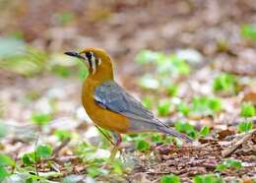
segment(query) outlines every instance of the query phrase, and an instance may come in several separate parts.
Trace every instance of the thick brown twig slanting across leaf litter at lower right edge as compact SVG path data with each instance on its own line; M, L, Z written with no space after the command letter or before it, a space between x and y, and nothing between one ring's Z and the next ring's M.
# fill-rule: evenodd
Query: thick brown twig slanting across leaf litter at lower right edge
M244 134L244 136L238 140L237 142L236 139L234 139L234 144L231 145L228 149L225 149L222 154L223 156L227 156L229 154L231 154L232 152L234 152L239 146L241 146L243 143L245 143L246 141L248 141L250 139L250 137L256 133L256 129Z

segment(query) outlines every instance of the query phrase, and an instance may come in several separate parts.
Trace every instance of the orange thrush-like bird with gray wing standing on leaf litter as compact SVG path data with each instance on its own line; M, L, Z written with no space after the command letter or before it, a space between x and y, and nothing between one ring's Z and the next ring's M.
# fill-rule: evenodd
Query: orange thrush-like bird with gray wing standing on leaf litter
M185 134L162 123L152 111L115 82L113 61L105 50L87 47L65 54L81 59L89 70L82 87L82 104L96 127L111 132L115 142L110 159L114 159L119 150L121 134L160 132L187 143L193 142Z

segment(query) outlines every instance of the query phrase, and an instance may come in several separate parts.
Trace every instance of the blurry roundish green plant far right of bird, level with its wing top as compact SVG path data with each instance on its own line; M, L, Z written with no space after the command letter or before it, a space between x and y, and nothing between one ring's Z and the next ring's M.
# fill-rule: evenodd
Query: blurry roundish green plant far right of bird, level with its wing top
M236 85L236 78L233 75L224 73L215 79L213 89L217 92L222 91L234 94L236 93Z

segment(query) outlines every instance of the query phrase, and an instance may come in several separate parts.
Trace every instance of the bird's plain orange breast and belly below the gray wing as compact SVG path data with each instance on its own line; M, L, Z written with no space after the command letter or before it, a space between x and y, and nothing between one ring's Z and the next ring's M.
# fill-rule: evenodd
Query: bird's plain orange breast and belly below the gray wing
M96 104L94 98L96 86L96 81L90 79L86 80L83 86L82 102L88 115L99 127L118 133L126 133L129 127L129 120L125 116Z

